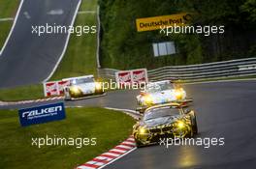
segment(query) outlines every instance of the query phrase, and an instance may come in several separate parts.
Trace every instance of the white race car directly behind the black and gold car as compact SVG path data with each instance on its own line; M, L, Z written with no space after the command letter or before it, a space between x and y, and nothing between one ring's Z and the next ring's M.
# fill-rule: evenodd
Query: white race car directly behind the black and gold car
M145 85L144 91L137 96L137 111L144 113L144 110L152 105L167 102L191 102L186 98L183 88L170 80L151 82Z

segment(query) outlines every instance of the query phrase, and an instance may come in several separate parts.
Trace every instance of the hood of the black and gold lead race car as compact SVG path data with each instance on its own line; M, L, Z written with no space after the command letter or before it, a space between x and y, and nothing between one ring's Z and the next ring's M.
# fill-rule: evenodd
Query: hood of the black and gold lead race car
M144 121L145 127L157 127L162 125L173 124L178 119L181 119L180 115L168 116L168 117L159 117L152 120Z

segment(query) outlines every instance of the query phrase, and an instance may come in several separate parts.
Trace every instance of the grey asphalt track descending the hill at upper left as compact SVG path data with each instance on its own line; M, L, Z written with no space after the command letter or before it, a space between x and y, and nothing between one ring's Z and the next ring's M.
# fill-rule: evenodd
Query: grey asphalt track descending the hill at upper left
M63 56L69 34L32 34L32 26L72 25L80 0L24 0L0 56L0 88L44 81Z

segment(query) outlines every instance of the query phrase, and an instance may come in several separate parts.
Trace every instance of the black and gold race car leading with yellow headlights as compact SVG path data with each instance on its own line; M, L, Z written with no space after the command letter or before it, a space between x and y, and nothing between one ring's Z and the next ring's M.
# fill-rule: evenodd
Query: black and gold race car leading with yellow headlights
M196 113L183 104L165 103L147 108L133 127L137 147L160 142L160 138L193 137L198 133Z

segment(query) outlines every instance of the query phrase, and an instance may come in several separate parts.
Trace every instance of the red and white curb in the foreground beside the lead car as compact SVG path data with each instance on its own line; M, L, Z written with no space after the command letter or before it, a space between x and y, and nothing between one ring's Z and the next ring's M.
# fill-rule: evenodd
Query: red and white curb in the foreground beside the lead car
M76 169L100 169L109 164L113 161L119 159L120 157L131 153L132 151L136 150L136 143L133 136L130 136L128 139L123 141L118 146L115 146L112 150L93 159L81 164Z

